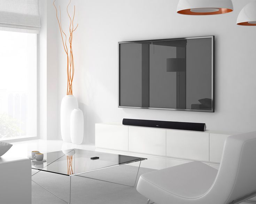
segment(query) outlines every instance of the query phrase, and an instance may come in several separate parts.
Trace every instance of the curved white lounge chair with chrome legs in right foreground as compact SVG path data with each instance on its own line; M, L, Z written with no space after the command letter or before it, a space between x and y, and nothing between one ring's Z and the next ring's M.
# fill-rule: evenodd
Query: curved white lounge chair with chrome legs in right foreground
M255 146L256 131L229 136L219 170L195 161L152 171L137 190L157 204L241 203L256 195Z

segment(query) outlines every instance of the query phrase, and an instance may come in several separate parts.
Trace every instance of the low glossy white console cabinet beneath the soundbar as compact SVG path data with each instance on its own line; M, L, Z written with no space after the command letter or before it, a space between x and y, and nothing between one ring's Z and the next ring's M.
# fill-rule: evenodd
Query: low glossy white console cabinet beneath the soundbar
M225 139L231 134L214 130L201 132L100 123L95 124L95 146L219 163Z

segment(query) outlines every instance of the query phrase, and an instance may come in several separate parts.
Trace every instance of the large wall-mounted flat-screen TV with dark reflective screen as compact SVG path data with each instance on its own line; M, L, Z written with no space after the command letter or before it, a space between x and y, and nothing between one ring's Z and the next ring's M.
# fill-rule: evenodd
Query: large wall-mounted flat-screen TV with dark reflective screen
M214 36L118 42L118 107L214 112Z

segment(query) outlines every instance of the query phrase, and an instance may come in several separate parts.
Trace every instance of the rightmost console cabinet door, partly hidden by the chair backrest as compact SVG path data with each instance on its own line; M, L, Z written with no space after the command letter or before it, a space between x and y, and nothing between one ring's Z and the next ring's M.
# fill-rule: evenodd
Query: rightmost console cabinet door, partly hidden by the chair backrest
M229 135L210 133L210 161L220 162L224 143Z

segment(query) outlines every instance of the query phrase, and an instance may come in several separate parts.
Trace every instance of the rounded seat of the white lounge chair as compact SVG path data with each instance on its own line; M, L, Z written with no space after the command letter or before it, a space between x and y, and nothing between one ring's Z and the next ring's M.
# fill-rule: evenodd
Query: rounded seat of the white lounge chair
M152 201L154 195L161 195L158 203L169 203L173 196L197 198L210 189L217 172L202 162L189 162L141 175L137 190Z

